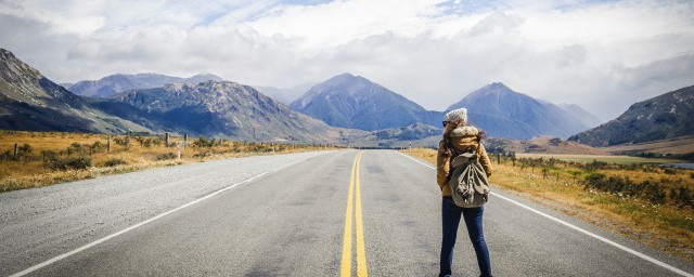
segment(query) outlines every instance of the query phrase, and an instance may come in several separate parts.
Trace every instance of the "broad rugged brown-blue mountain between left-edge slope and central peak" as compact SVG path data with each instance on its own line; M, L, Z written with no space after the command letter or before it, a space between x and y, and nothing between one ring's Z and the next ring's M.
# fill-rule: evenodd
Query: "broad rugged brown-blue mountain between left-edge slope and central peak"
M339 141L340 132L230 81L171 83L94 100L103 110L157 131L250 141Z

